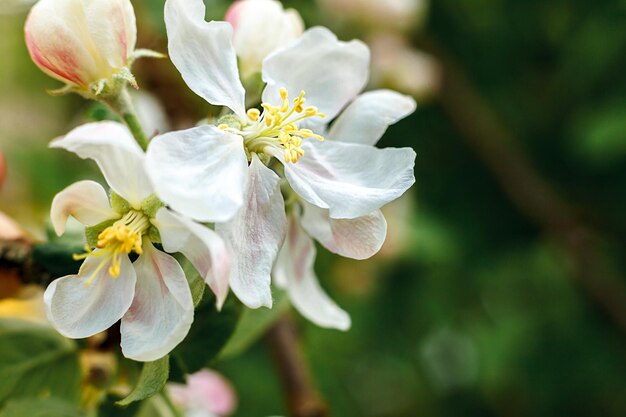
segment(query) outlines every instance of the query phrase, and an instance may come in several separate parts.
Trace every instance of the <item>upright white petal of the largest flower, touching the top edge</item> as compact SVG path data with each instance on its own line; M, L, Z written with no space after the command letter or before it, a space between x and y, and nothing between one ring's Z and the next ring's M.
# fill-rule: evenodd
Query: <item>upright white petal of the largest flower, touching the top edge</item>
M245 91L237 71L232 27L225 22L206 22L204 16L202 0L167 0L170 58L196 94L244 115Z

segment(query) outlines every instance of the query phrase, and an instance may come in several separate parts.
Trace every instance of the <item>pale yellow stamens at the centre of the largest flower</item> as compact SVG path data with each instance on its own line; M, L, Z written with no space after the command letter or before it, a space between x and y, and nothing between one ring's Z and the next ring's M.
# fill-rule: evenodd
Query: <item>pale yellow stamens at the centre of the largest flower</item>
M244 121L241 130L225 124L218 127L242 136L244 146L249 154L264 153L270 155L270 149L280 149L283 151L286 162L296 163L300 157L304 156L304 150L301 148L303 139L324 140L322 136L313 133L310 129L298 127L298 123L302 120L311 117L326 117L315 106L305 107L306 98L304 96L304 91L301 91L300 95L290 102L289 92L286 88L281 88L282 104L280 106L263 103L261 104L263 112L256 108L248 110L248 120Z

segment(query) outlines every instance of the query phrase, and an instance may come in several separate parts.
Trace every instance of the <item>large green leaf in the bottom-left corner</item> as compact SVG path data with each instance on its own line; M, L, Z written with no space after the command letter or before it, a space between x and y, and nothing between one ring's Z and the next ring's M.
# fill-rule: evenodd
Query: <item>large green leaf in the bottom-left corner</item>
M33 396L77 402L80 380L73 341L48 326L0 319L0 403Z

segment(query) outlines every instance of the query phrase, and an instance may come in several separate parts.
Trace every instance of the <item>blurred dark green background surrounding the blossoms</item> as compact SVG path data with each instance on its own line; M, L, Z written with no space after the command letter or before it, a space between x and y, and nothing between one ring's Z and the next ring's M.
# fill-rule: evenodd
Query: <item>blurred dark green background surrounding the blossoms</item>
M0 0L0 210L43 238L52 197L98 179L47 143L104 110L46 94L59 85L28 57L27 3ZM133 0L139 47L166 51L162 3ZM206 3L214 19L229 5ZM332 414L626 415L626 2L284 3L309 27L364 39L370 87L419 102L379 145L418 154L381 253L318 251L352 329L298 321ZM135 73L152 94L141 107L163 107L146 116L152 132L209 111L169 61ZM235 416L286 413L262 340L215 368L235 387Z

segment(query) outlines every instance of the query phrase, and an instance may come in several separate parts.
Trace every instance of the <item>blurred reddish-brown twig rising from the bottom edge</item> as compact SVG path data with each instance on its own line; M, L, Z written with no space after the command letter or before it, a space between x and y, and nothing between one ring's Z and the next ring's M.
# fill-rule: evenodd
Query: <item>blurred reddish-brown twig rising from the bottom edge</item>
M327 417L329 411L313 385L297 331L289 315L278 319L267 334L292 417Z

